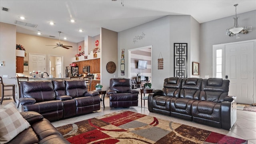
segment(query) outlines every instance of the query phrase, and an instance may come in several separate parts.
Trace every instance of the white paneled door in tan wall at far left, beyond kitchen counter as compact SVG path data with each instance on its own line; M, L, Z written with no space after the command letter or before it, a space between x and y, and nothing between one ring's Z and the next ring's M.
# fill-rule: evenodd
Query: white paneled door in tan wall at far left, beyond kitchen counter
M45 70L45 55L44 54L29 54L29 71L41 71L46 72ZM47 75L47 74L46 74ZM44 77L46 76L44 74ZM37 75L40 77L40 75Z

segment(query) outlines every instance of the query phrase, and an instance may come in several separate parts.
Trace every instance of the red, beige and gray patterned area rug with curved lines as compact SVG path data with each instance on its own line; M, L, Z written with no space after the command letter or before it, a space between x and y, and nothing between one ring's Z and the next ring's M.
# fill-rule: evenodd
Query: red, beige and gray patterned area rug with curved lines
M72 144L247 144L247 140L130 111L57 128Z

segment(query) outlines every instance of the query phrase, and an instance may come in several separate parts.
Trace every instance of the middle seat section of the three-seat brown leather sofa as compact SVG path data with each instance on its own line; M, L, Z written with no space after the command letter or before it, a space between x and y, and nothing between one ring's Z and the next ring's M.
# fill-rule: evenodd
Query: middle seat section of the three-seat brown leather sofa
M200 97L202 79L183 78L179 98L172 98L171 116L192 120L192 103Z

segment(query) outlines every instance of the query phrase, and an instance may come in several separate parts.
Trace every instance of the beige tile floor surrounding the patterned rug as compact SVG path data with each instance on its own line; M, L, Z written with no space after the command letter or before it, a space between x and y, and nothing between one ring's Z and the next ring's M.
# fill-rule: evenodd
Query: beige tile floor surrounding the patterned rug
M13 100L4 100L2 106L6 105L10 102L13 102ZM117 112L117 111L120 111L120 110L130 110L130 111L138 112L138 113L141 113L141 114L155 116L157 118L161 118L161 119L164 119L164 120L170 120L172 122L178 122L178 123L181 123L181 124L186 124L186 125L189 125L189 126L202 128L202 129L205 129L205 130L218 132L220 134L225 134L225 135L233 136L233 137L236 137L236 138L246 139L246 140L248 140L248 144L256 144L256 112L248 112L248 111L244 111L244 110L237 110L236 124L232 127L232 129L230 131L228 131L228 130L223 130L223 129L220 129L220 128L214 128L214 127L206 126L206 125L199 124L199 123L196 123L196 122L191 122L191 121L188 121L188 120L182 120L180 118L174 118L172 116L166 116L166 115L162 115L162 114L149 112L148 111L147 100L145 101L145 103L146 103L145 108L143 106L141 108L140 95L139 95L138 106L133 106L133 107L130 107L130 108L110 108L109 107L109 98L105 97L105 108L101 108L99 111L93 112L91 114L76 116L74 118L68 118L68 119L65 119L65 120L59 120L57 122L52 122L52 124L55 127L58 127L58 126L63 126L63 125L74 123L74 122L79 122L81 120L86 120L86 119L89 119L89 118L102 116L104 114ZM142 105L143 105L143 102L142 102ZM2 106L0 106L0 108ZM21 111L21 106L19 107L19 111Z

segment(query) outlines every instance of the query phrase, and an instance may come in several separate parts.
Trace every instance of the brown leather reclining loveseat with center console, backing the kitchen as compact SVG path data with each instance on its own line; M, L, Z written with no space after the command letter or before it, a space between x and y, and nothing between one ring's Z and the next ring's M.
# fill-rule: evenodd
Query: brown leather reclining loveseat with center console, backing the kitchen
M20 83L22 112L34 111L50 121L100 110L98 92L87 91L85 80Z

